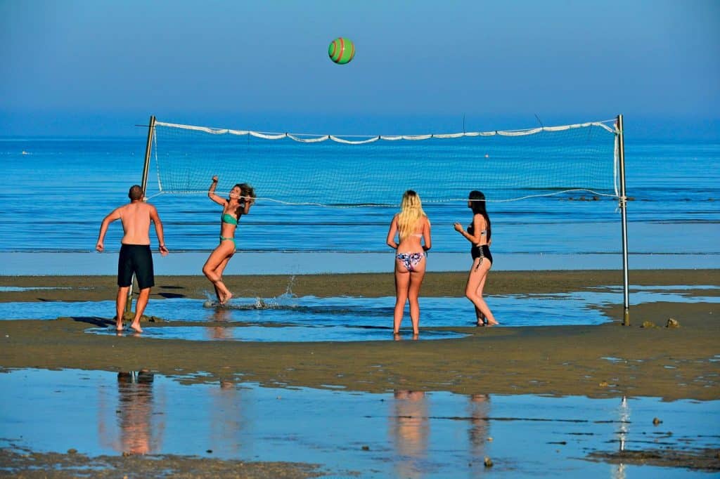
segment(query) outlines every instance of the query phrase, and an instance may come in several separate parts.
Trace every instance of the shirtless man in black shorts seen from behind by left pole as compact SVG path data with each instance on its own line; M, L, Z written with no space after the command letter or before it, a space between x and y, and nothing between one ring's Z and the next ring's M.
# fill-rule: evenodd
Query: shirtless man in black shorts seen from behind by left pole
M163 237L163 224L160 221L160 216L158 216L158 210L155 209L155 206L143 201L144 194L143 188L140 188L140 186L133 185L130 187L130 192L127 193L127 196L130 197L130 204L120 206L105 216L100 225L97 245L95 245L96 250L100 252L104 250L102 242L105 239L107 227L116 219L120 219L122 231L125 234L122 237L120 257L117 261L117 300L115 301L115 309L117 310L115 329L117 331L122 331L122 314L125 311L125 304L127 304L127 293L132 288L132 275L134 273L135 278L138 278L140 295L138 296L135 317L130 323L130 328L135 332L143 332L143 329L140 328L140 317L143 316L145 306L148 305L150 288L155 286L153 255L150 252L150 222L155 224L161 255L168 254Z

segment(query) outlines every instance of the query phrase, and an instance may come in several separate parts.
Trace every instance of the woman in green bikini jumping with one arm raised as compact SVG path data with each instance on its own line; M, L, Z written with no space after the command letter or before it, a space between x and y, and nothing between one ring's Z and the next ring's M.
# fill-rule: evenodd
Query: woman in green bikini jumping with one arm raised
M238 227L240 216L248 214L250 207L255 203L255 191L248 183L238 183L230 190L230 198L225 199L215 194L217 188L217 175L212 177L210 190L207 196L215 203L222 206L220 216L220 245L210 253L202 273L207 276L212 286L215 287L217 302L225 304L233 297L228 287L222 282L222 271L228 265L228 261L235 254L235 229Z

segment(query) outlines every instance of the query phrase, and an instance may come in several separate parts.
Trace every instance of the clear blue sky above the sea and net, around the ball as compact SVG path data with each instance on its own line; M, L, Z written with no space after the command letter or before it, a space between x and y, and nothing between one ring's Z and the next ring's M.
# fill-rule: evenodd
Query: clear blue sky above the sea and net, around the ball
M338 36L348 65L328 58ZM346 134L618 113L715 129L719 112L717 0L0 0L0 134L127 135L150 114Z

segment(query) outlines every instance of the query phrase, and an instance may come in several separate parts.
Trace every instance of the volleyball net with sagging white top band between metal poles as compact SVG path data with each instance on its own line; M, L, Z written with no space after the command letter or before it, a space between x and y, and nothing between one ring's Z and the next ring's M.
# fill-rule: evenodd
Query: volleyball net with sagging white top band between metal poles
M258 201L397 206L587 192L618 197L616 120L489 132L345 136L256 132L156 121L150 157L158 190L204 194L250 183ZM150 166L152 170L152 166Z

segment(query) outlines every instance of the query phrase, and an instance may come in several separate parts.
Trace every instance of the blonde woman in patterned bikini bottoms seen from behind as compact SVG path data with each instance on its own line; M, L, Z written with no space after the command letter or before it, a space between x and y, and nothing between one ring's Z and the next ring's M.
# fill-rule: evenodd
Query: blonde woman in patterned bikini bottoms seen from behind
M395 236L399 242L395 241ZM423 211L420 196L413 190L402 194L400 213L395 214L387 232L387 245L395 252L395 314L392 332L400 334L400 323L405 303L410 300L410 320L413 322L413 337L420 330L420 286L425 277L426 254L432 246L430 220Z

